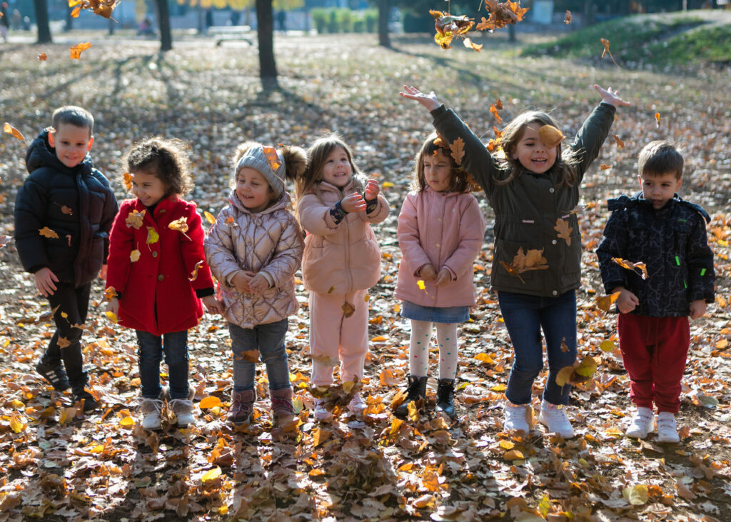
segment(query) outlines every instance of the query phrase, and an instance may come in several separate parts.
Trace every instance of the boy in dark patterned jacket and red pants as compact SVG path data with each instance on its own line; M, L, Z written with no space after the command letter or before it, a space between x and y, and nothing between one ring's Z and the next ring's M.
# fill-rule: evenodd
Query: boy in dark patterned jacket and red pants
M700 206L675 192L683 183L683 156L670 143L645 145L638 159L642 192L609 200L612 214L596 250L607 294L619 292L619 348L637 406L626 435L679 442L675 414L688 355L688 316L705 314L713 303L713 252L708 247ZM704 221L705 219L705 221ZM645 263L646 273L627 261Z

